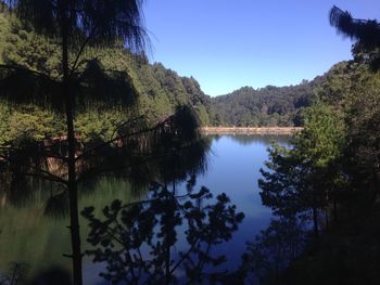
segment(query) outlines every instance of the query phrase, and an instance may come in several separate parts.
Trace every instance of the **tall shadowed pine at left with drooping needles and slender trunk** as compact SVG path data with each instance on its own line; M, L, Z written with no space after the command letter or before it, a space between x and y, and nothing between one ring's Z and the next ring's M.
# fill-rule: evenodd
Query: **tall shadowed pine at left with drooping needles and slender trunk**
M68 189L71 235L73 246L74 283L81 284L81 250L77 205L77 161L74 116L79 101L80 87L90 87L91 101L110 100L124 103L128 93L125 90L126 75L114 75L115 82L101 75L96 61L81 61L81 54L89 44L112 46L123 42L131 49L141 51L145 42L142 26L140 0L131 1L92 1L92 0L8 0L4 3L26 25L31 25L37 33L56 40L62 49L59 78L24 69L17 66L2 66L2 96L13 101L33 102L62 109L66 118L67 179L62 181ZM83 65L86 65L85 67ZM87 72L89 70L89 72ZM91 70L91 72L90 72ZM81 73L79 73L81 72ZM34 86L31 92L26 86ZM20 89L23 90L20 90ZM18 90L17 90L18 89ZM94 90L107 92L94 92ZM102 98L104 96L104 98Z

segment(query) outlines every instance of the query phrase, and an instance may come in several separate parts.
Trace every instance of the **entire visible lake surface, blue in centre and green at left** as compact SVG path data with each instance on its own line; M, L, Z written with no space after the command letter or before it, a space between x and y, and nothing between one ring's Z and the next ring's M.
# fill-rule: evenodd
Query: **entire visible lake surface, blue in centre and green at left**
M208 168L204 174L197 178L195 189L202 185L211 190L214 196L226 193L237 205L237 210L244 212L244 219L233 237L228 243L218 245L217 250L227 256L229 269L240 263L245 243L253 241L255 235L265 229L271 212L261 203L257 179L259 169L268 158L267 147L275 140L288 144L289 137L283 135L213 135L212 152L208 154ZM34 191L17 203L9 203L10 197L0 193L0 274L7 271L12 262L25 265L29 274L59 265L69 270L71 260L63 254L71 252L67 218L51 218L43 216L43 206L49 197L47 185L45 191ZM80 196L80 207L94 206L100 215L101 209L113 199L124 203L139 199L131 194L126 181L103 179L92 185L91 193ZM183 185L178 185L183 187ZM85 192L85 191L84 191ZM84 249L88 229L81 220L81 238ZM180 244L180 241L179 241ZM180 247L180 246L179 246ZM103 264L92 263L89 258L84 260L85 284L101 284L98 273Z

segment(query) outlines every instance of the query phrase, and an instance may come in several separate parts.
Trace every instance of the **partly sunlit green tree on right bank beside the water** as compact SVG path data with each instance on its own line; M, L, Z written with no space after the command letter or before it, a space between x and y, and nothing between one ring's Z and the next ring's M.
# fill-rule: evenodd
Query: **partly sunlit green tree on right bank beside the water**
M343 121L322 104L305 112L304 129L293 147L274 145L269 150L269 170L261 170L258 181L264 205L280 217L313 213L318 234L318 209L326 209L342 177L339 164L344 145Z

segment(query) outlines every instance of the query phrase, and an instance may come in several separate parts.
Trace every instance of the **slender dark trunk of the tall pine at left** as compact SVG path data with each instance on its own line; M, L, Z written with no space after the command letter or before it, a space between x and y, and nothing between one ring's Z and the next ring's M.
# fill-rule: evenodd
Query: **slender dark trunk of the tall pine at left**
M65 1L63 1L65 2ZM75 131L74 131L74 95L69 85L68 73L68 24L66 8L62 9L62 68L63 68L63 96L65 100L67 127L67 170L68 170L68 200L69 200L69 231L72 237L73 282L83 284L81 250L79 233L78 196L75 170Z

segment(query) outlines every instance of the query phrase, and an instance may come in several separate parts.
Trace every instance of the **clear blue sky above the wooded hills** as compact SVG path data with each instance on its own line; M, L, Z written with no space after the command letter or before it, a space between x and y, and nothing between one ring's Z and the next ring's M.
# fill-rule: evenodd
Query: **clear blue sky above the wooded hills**
M150 61L193 76L213 96L311 80L351 59L351 40L329 25L333 4L380 17L378 0L145 0Z

